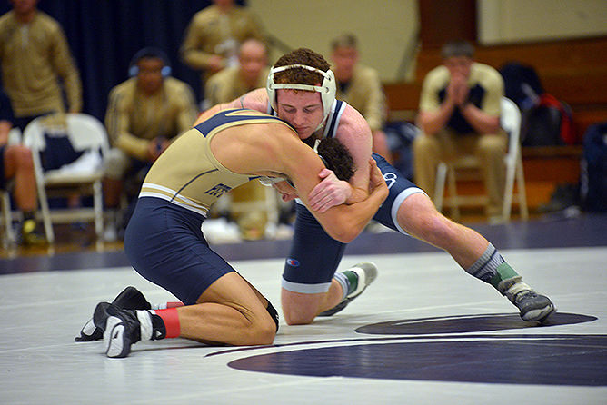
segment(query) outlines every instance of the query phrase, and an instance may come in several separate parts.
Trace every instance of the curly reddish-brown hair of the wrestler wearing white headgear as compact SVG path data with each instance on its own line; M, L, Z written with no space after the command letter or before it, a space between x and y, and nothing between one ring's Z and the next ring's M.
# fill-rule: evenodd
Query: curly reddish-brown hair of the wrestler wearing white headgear
M278 58L273 67L290 64L305 64L323 72L328 71L331 67L331 64L324 59L322 54L316 54L313 50L307 48L295 49L288 54L284 54ZM274 83L318 85L323 83L323 76L309 70L294 68L274 74Z

